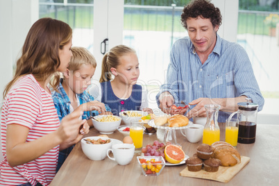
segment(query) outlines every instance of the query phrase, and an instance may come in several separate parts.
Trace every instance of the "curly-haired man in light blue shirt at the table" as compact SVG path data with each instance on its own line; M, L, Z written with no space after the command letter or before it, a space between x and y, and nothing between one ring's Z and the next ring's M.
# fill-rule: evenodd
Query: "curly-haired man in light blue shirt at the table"
M218 104L219 122L246 98L262 110L264 99L246 51L217 34L219 8L209 1L192 1L183 9L181 22L189 37L177 40L171 49L167 83L156 96L161 110L184 101L193 105L187 117L206 117L204 105Z

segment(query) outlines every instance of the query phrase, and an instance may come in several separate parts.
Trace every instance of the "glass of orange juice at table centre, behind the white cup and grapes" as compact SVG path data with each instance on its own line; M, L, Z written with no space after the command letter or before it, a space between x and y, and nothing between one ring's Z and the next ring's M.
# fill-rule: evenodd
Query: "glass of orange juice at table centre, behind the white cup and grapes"
M142 151L142 142L145 130L143 125L144 121L142 119L139 121L130 122L130 137L132 137L133 143L135 145L135 153L140 153Z

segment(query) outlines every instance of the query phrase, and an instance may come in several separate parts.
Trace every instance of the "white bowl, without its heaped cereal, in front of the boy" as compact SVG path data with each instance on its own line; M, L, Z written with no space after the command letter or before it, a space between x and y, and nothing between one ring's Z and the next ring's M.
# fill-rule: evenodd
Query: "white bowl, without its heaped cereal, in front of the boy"
M107 117L108 115L98 115L95 116L95 119L102 118L102 117ZM114 116L119 118L119 121L110 121L110 122L102 122L102 121L96 121L95 119L92 119L93 126L96 128L96 130L99 131L101 134L112 134L117 130L117 127L121 124L121 117Z

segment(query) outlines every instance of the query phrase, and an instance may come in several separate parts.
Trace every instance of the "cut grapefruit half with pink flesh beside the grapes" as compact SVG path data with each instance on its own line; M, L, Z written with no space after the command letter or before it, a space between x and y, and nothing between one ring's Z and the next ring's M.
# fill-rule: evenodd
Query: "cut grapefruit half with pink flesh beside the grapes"
M180 146L169 144L164 148L164 158L168 162L176 164L184 160L185 153Z

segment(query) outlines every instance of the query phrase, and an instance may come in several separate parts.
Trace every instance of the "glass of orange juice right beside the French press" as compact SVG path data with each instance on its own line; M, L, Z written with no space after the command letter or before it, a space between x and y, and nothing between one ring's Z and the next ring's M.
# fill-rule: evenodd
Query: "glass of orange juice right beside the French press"
M232 146L237 146L238 119L226 119L226 142Z

